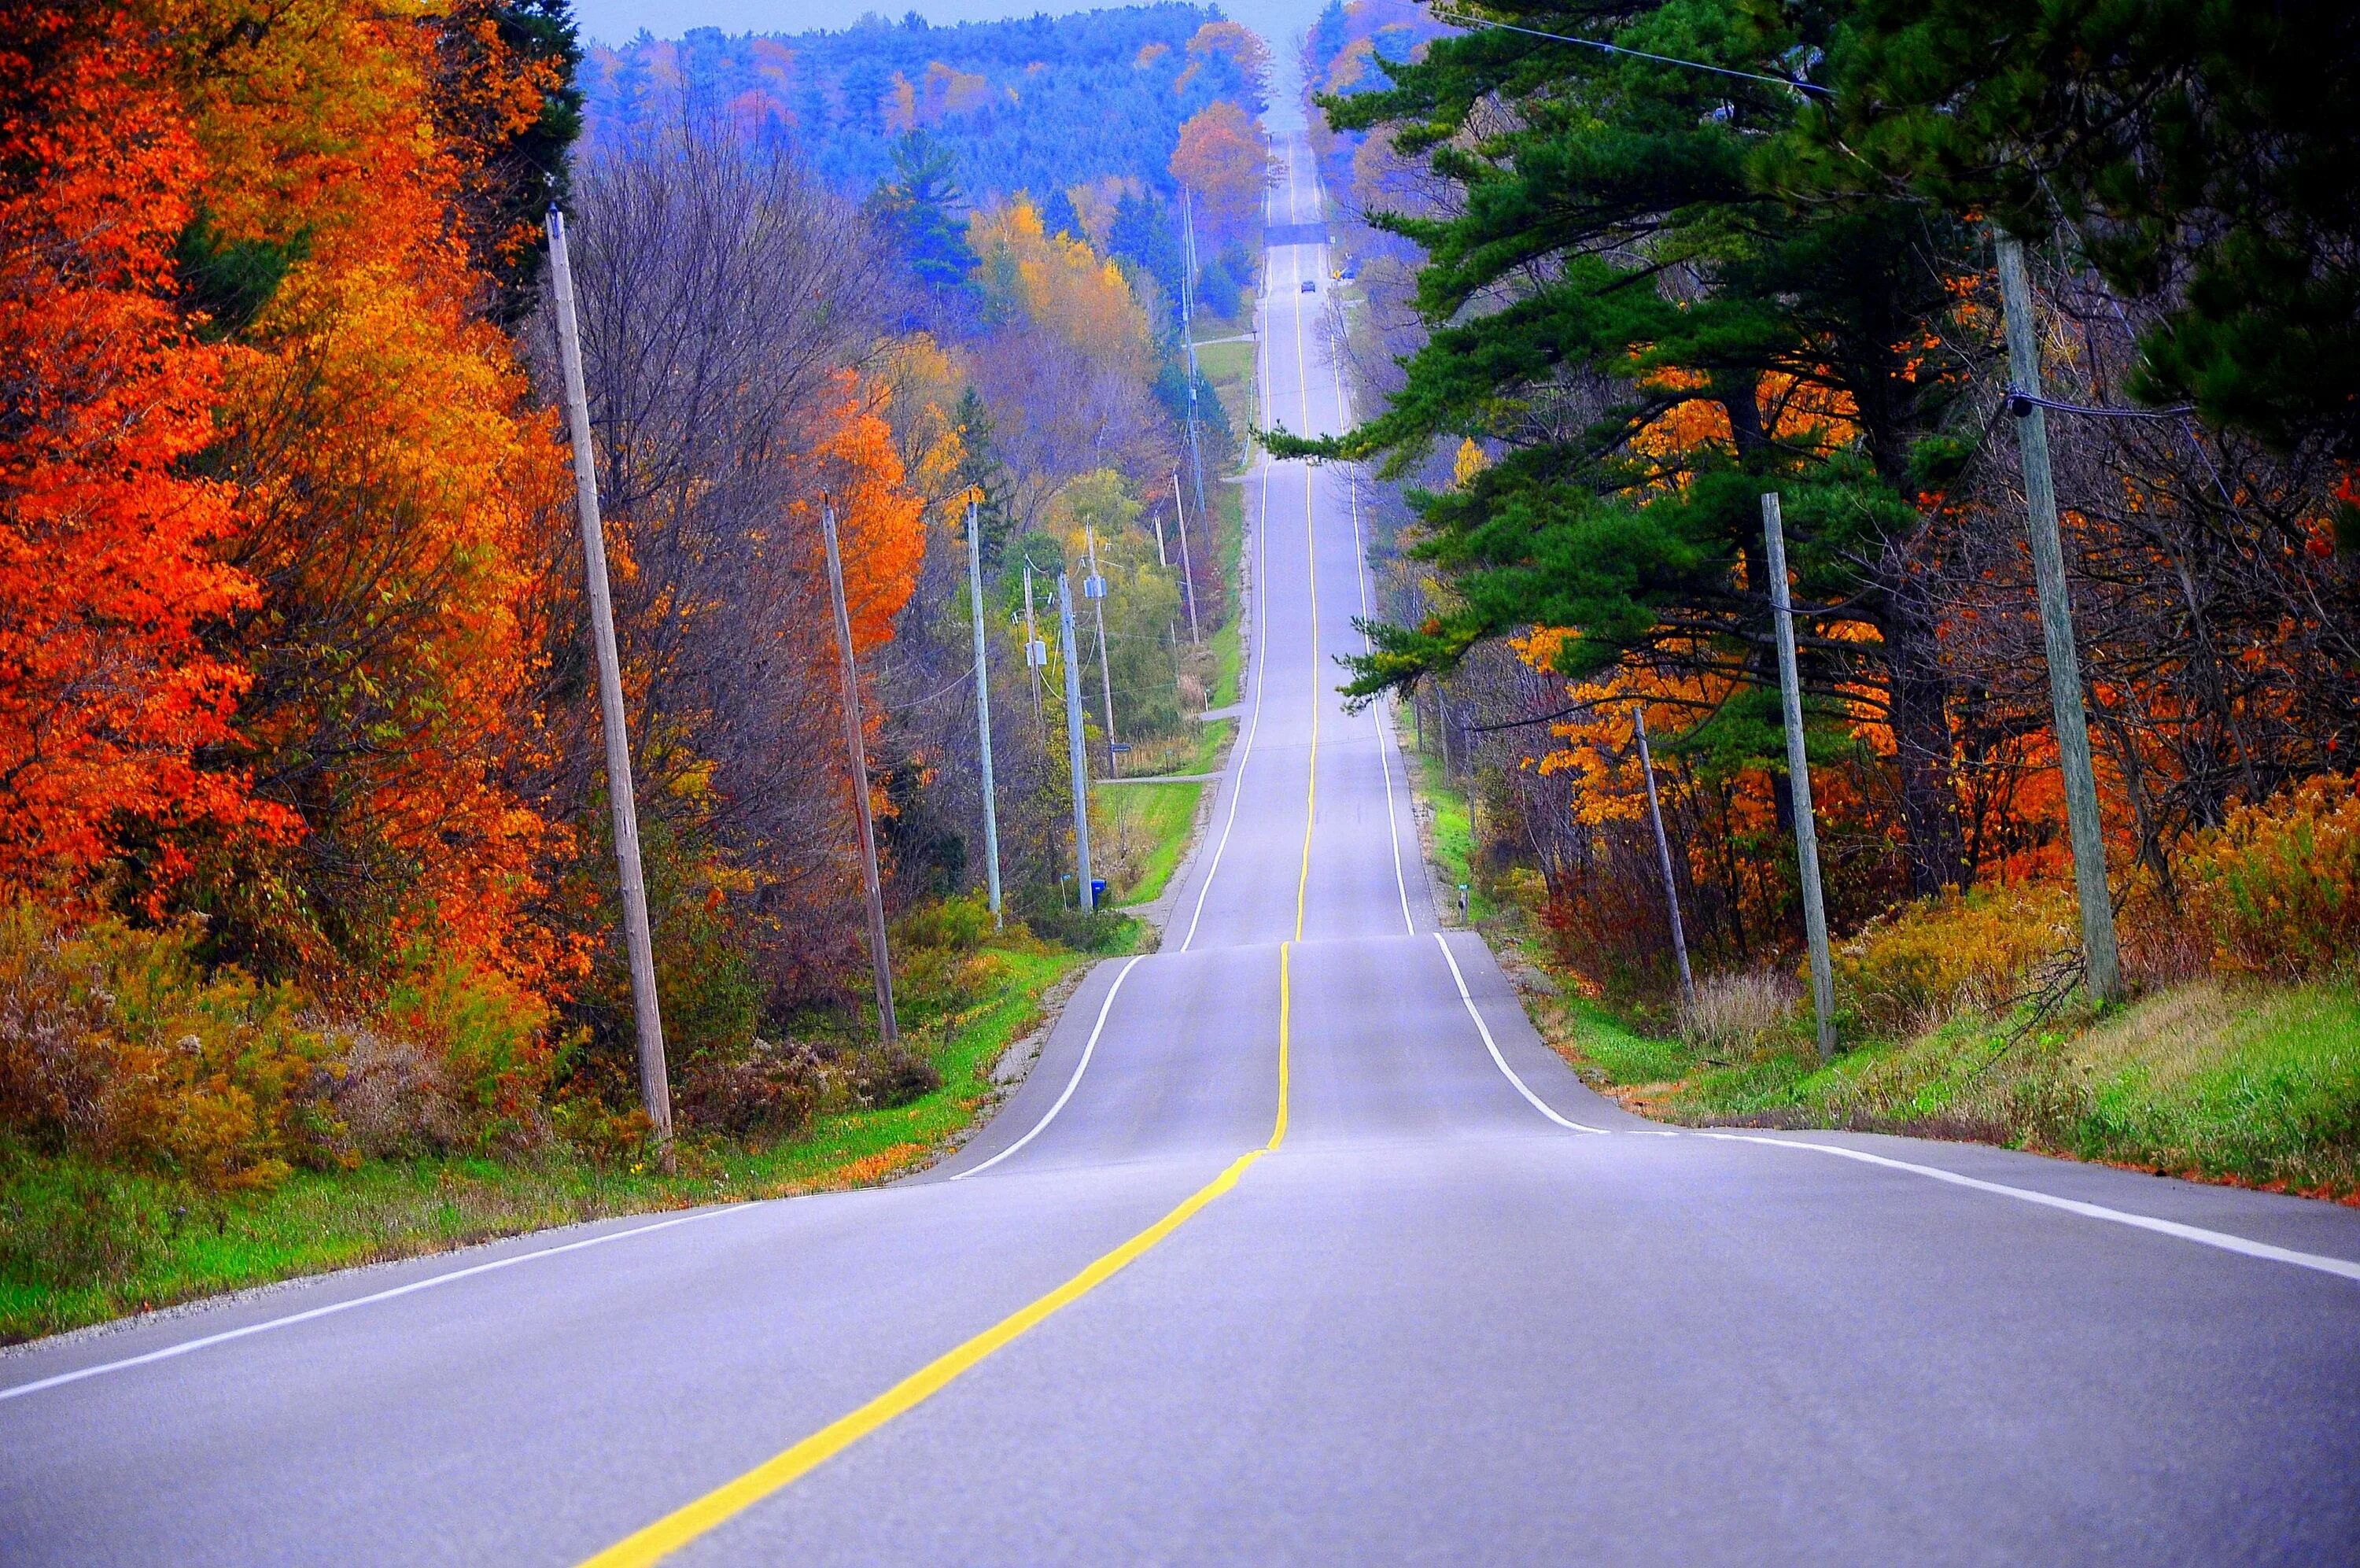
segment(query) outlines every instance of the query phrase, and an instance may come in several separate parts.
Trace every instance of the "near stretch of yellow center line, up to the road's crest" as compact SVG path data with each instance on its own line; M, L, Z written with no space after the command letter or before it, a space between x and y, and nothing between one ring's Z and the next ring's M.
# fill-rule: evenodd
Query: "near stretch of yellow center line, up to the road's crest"
M772 1492L793 1485L800 1476L826 1464L843 1450L852 1448L866 1438L878 1426L885 1426L897 1415L916 1410L925 1400L935 1398L949 1389L963 1372L970 1372L984 1363L996 1351L1015 1344L1031 1329L1041 1327L1048 1318L1064 1311L1067 1306L1081 1301L1093 1289L1119 1275L1130 1263L1138 1263L1147 1252L1156 1247L1173 1230L1185 1226L1192 1214L1204 1209L1208 1202L1237 1185L1237 1178L1260 1159L1263 1155L1279 1148L1286 1141L1286 1079L1289 1079L1289 1015L1293 1011L1293 982L1289 973L1289 945L1279 942L1279 1115L1277 1124L1270 1129L1270 1143L1258 1150L1246 1150L1232 1159L1220 1176L1204 1183L1175 1207L1171 1214L1156 1223L1140 1230L1128 1242L1104 1254L1079 1275L1048 1292L1038 1301L1017 1308L1015 1313L1001 1318L989 1329L975 1339L961 1344L958 1348L937 1355L927 1365L918 1367L899 1384L876 1396L852 1415L838 1417L795 1443L793 1448L772 1455L762 1464L753 1466L736 1481L727 1481L696 1502L666 1514L644 1530L618 1540L597 1556L583 1561L583 1568L637 1568L640 1563L656 1563L673 1551L687 1547L696 1537L715 1530L717 1525L736 1518L753 1504L762 1502Z

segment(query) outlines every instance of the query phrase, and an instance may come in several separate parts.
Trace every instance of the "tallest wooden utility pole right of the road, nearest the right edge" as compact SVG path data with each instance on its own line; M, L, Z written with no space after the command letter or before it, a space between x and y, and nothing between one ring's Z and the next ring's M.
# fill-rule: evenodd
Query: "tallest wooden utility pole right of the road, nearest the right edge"
M2065 541L2058 536L2058 494L2048 475L2048 413L2041 397L2041 349L2032 335L2032 279L2025 248L1999 231L1999 300L2008 319L2008 387L2015 446L2025 460L2025 522L2032 534L2032 586L2041 602L2041 647L2048 654L2048 708L2065 775L2065 827L2072 834L2072 883L2082 902L2082 963L2091 997L2122 994L2115 949L2115 897L2105 886L2105 822L2098 817L2098 772L2089 756L2089 713L2082 706L2082 654L2072 635L2065 588Z

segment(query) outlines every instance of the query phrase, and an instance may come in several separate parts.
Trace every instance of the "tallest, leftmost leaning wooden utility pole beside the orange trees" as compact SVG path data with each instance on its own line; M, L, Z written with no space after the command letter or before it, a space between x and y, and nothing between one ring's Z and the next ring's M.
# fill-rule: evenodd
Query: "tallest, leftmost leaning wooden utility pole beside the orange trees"
M566 373L566 430L573 437L573 501L583 529L590 640L597 645L597 711L607 730L607 805L614 810L614 864L623 883L623 949L630 954L630 1015L640 1044L640 1103L656 1148L670 1159L673 1082L663 1065L663 1008L656 1001L656 942L640 874L640 805L630 791L630 734L623 730L623 664L614 652L614 597L607 588L607 531L597 510L597 453L590 449L590 392L583 335L573 319L573 260L566 215L550 208L550 279L557 286L557 357Z

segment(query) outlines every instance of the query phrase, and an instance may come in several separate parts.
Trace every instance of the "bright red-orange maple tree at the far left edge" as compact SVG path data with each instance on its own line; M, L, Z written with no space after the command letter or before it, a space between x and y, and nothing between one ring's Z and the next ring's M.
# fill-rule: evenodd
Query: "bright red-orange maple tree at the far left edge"
M80 883L123 815L283 836L196 765L248 675L205 626L257 602L215 548L222 357L172 302L201 158L149 33L104 5L0 21L0 883Z

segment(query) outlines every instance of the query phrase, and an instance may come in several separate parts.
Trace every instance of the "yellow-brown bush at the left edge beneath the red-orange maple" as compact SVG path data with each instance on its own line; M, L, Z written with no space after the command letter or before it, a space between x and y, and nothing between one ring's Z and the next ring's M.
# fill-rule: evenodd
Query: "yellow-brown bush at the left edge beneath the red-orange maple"
M198 930L0 914L0 1119L35 1145L137 1162L210 1190L267 1190L349 1159L333 1108L342 1041L290 987L205 973Z

